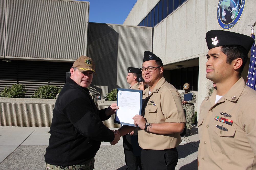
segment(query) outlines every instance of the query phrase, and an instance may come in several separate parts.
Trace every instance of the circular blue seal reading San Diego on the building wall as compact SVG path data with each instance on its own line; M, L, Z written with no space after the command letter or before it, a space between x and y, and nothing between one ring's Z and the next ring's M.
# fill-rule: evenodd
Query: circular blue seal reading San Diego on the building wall
M242 16L246 0L219 0L217 19L223 30L229 30Z

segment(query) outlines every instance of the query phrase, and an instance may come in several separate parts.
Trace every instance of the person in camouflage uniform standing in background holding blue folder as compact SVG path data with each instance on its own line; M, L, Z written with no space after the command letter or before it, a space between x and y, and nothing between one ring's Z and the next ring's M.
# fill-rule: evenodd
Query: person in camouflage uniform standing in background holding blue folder
M183 133L181 133L180 135L184 135L184 136L190 136L190 130L192 129L192 118L193 118L193 115L195 113L195 106L194 106L194 103L196 102L196 95L194 92L192 91L189 91L189 84L188 83L185 83L183 85L183 91L181 93L181 99L182 99L182 107L184 109L184 112L186 114L186 120L187 120L187 123L186 123L186 126L185 126L185 129L183 131ZM184 94L187 94L187 93L192 93L192 100L189 100L189 101L184 101Z

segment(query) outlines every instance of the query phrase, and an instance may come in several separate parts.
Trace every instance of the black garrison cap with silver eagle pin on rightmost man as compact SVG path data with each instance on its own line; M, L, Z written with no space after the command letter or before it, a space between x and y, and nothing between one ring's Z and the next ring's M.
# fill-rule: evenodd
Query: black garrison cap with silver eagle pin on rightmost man
M206 33L205 40L208 49L224 45L240 45L249 53L253 38L244 34L239 34L224 30L211 30Z

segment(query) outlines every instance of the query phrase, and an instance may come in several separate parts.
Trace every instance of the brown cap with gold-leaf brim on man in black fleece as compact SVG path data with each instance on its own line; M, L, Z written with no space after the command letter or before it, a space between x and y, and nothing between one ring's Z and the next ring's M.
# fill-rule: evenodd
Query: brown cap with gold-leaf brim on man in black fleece
M95 64L94 61L87 56L80 56L73 64L72 67L76 67L80 72L83 71L93 71L95 72Z

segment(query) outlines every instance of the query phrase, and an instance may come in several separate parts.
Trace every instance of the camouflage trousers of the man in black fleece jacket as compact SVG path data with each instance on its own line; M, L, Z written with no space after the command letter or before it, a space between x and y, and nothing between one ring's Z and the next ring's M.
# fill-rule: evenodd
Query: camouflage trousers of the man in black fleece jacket
M92 170L94 169L94 157L80 163L80 165L58 166L45 163L46 170Z

